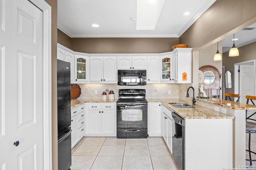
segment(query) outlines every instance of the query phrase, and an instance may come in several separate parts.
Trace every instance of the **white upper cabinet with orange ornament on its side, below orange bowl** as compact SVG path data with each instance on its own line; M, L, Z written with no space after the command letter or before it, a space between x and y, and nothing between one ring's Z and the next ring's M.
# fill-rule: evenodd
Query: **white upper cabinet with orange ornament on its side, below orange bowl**
M174 83L191 83L192 78L192 48L176 48L173 53Z

